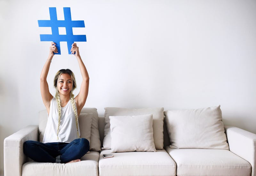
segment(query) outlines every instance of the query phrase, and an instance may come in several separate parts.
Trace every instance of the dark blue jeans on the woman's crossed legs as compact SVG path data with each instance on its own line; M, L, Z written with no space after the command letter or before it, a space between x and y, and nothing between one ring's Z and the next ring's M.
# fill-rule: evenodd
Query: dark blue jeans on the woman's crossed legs
M23 144L23 152L26 156L44 163L67 163L81 158L89 149L89 141L85 138L78 138L70 143L26 141Z

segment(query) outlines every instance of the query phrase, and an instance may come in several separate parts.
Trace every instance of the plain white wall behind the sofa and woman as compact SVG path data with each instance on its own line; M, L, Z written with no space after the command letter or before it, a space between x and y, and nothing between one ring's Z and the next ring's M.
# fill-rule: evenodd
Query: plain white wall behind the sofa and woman
M84 20L87 42L77 45L90 75L85 107L221 105L225 124L256 133L256 1L19 1L0 0L0 175L3 141L38 124L44 109L39 76L50 42L40 42L38 19L49 7L71 7ZM61 68L81 76L76 59L61 43L48 83ZM77 93L77 92L75 92Z

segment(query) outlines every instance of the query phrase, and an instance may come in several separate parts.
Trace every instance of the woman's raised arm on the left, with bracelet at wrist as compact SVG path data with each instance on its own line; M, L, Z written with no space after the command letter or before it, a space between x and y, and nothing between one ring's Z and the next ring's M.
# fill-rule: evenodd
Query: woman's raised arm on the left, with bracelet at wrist
M52 57L54 56L54 53L58 53L58 50L55 45L56 45L56 43L52 42L52 45L50 47L49 56L44 64L43 70L40 75L41 96L42 96L42 99L43 99L43 102L44 102L44 105L46 107L48 114L50 111L50 103L51 103L53 96L49 91L49 86L48 86L46 78L47 78L49 68L50 68L50 65L52 62Z

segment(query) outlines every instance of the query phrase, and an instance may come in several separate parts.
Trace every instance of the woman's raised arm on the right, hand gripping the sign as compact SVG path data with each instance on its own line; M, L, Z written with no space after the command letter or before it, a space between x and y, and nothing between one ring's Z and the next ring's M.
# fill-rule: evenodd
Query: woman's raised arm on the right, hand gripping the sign
M86 67L84 65L84 62L82 61L80 54L79 54L79 50L78 47L76 46L76 43L72 44L72 48L71 48L71 54L74 54L76 56L76 59L78 61L79 64L79 68L82 74L82 83L81 83L81 88L80 91L78 93L78 95L75 97L75 101L76 101L76 108L77 108L77 112L78 115L80 114L82 108L84 107L85 101L87 99L88 96L88 90L89 90L89 75L88 72L86 70Z

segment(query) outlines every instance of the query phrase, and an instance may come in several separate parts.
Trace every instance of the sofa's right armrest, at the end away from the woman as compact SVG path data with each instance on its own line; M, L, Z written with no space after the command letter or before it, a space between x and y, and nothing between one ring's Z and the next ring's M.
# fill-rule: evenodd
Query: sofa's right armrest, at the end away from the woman
M244 158L252 165L252 176L256 176L256 134L237 128L225 126L229 150Z

